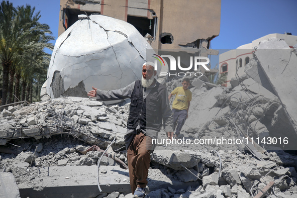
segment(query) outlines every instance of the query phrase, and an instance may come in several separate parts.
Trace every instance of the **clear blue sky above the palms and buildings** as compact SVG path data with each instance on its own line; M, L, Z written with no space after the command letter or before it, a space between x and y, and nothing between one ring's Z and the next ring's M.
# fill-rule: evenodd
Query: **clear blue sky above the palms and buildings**
M40 22L48 24L57 39L60 0L9 1L14 7L35 7L40 11ZM212 40L211 48L236 49L273 33L297 35L296 8L297 0L222 0L220 35Z

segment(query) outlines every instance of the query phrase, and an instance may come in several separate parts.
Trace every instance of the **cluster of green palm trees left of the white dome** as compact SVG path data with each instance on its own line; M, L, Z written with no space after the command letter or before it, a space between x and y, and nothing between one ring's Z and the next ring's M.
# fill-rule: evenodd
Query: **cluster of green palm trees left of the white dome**
M35 7L31 8L30 5L14 8L9 1L3 1L0 5L0 63L4 91L2 105L7 99L12 102L13 85L16 84L14 75L18 78L15 86L15 95L18 96L20 78L29 87L38 86L43 83L41 80L46 79L50 54L45 53L44 49L53 49L49 43L53 37L49 26L39 23L40 17L40 12L35 12ZM37 100L38 94L39 91L33 92Z

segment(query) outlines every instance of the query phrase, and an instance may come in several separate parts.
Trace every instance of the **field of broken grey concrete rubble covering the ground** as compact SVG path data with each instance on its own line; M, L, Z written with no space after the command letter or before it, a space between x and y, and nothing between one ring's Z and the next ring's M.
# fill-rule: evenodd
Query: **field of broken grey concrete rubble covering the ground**
M255 59L261 60L261 56L256 53ZM291 60L292 56L296 55L292 53ZM292 152L297 150L295 117L288 111L295 106L283 100L272 80L268 87L259 84L255 72L249 77L251 69L261 68L261 63L251 60L246 66L250 72L234 79L230 87L215 86L204 78L191 79L189 118L178 138L245 141L158 144L151 154L147 197L254 197L262 189L267 189L266 197L297 196L297 156ZM168 80L168 92L180 82ZM116 138L115 156L127 163L121 147L128 110L129 104L105 105L71 96L3 110L0 176L14 175L12 181L20 194L15 191L12 197L59 197L62 193L66 197L131 197L123 165L100 151L82 153L91 145L104 150ZM288 142L293 143L256 141L268 137L289 137ZM166 139L164 131L159 138ZM97 173L103 192L97 188Z

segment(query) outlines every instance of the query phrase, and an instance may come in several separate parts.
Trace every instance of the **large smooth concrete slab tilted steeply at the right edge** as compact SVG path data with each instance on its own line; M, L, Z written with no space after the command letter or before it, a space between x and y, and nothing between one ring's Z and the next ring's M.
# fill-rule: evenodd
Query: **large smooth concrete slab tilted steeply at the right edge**
M297 97L297 78L293 75L297 72L297 56L277 39L261 42L255 54L297 133L297 111L292 108Z

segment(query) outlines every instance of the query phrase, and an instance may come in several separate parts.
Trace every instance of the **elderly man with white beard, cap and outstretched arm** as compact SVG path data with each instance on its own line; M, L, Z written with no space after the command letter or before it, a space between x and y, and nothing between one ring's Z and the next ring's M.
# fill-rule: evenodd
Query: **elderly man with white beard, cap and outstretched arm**
M173 137L167 89L154 78L157 72L153 65L152 62L143 64L141 81L136 80L124 88L109 91L92 87L93 90L87 94L96 96L98 101L131 98L125 145L133 197L145 196L150 153L155 146L152 139L157 139L162 126L167 137Z

